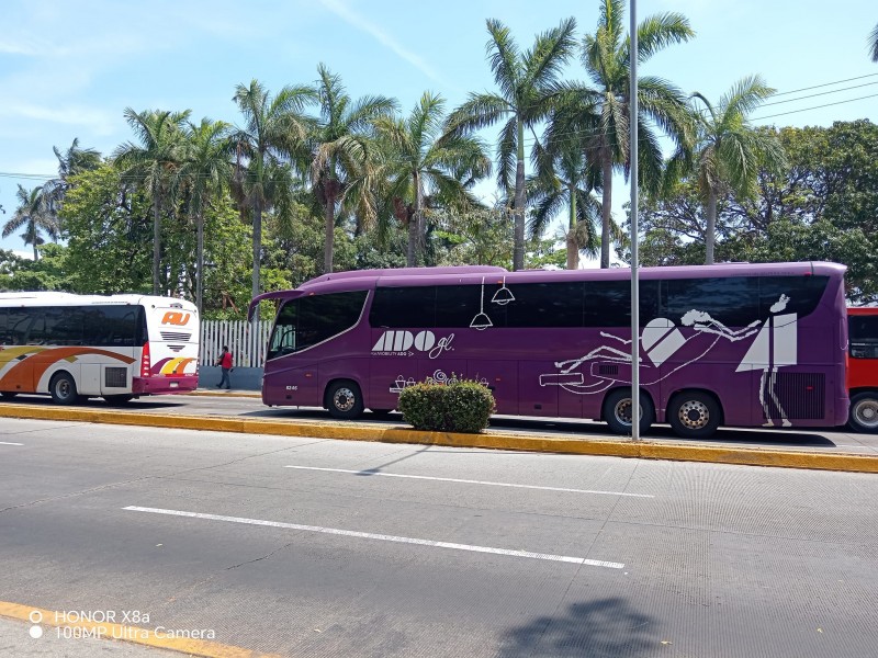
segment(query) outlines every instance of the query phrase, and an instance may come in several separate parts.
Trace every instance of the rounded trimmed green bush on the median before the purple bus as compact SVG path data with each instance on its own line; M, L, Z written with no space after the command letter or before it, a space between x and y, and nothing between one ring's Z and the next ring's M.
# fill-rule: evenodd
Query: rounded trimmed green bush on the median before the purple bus
M407 386L397 408L416 430L477 434L487 427L496 405L487 386L452 377L443 384L428 381Z

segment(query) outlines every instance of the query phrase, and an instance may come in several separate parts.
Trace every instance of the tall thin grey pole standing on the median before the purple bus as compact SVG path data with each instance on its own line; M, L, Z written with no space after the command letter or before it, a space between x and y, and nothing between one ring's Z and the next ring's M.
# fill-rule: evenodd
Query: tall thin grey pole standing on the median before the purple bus
M638 282L638 11L631 0L631 100L628 133L631 154L631 440L640 441L640 284Z

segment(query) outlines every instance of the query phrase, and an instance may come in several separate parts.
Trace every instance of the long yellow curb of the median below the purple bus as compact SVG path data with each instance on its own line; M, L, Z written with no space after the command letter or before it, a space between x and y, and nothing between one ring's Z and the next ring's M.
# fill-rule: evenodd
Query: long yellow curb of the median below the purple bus
M175 430L203 430L281 436L314 436L348 441L381 441L416 443L454 447L483 447L529 452L565 453L676 462L710 462L744 466L776 466L780 468L812 468L878 473L878 455L852 453L809 453L775 449L742 449L712 445L683 445L640 441L560 439L508 432L460 434L452 432L420 432L410 428L386 428L356 422L262 420L241 417L173 416L48 407L37 405L0 404L0 418L68 420L121 426L143 426Z

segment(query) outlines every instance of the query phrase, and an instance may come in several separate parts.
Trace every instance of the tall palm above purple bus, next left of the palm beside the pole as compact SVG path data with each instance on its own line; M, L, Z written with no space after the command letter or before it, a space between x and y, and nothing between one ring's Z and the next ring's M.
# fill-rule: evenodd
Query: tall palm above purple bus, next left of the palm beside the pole
M558 77L575 46L573 19L537 35L533 47L520 53L509 30L487 21L491 70L499 93L471 93L449 117L451 131L477 131L508 117L497 144L497 184L514 194L513 269L525 266L525 129L544 120L558 98ZM513 181L513 162L515 179Z

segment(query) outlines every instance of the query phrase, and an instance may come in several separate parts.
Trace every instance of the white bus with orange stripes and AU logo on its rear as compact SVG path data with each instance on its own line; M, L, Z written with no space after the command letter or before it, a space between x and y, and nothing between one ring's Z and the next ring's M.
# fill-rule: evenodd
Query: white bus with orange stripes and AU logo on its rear
M198 387L195 305L145 295L0 293L0 396L111 404Z

